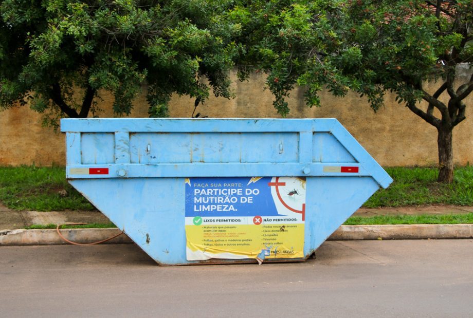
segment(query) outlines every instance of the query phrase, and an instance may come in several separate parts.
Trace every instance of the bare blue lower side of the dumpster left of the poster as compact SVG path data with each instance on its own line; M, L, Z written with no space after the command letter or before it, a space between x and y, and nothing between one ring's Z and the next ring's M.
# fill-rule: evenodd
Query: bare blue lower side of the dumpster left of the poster
M189 263L184 178L69 182L158 263Z

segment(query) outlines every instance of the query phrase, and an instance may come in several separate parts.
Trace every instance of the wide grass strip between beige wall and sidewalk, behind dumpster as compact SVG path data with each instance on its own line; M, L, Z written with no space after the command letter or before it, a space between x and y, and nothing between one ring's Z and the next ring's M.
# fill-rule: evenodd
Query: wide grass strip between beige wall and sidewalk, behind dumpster
M386 171L394 182L377 191L363 207L473 205L473 166L457 167L451 184L436 182L435 168L389 167ZM58 166L0 167L0 201L14 210L95 210L67 183L65 168Z

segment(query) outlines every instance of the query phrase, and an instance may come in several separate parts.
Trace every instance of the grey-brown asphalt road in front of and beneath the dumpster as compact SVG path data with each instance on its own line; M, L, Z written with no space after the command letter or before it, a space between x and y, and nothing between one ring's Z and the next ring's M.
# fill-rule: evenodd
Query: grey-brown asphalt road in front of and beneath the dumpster
M135 245L0 247L3 317L471 317L473 240L330 241L305 263L159 267Z

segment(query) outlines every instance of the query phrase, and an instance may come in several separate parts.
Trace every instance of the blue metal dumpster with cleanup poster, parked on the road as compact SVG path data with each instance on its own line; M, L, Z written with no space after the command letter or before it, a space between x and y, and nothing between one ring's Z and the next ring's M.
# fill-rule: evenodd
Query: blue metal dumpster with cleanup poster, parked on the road
M69 183L160 265L298 261L392 182L336 119L63 119Z

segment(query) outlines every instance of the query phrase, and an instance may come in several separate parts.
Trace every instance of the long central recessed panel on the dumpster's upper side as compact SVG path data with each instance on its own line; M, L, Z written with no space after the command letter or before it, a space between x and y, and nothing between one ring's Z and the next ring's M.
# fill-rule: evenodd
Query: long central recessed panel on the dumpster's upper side
M298 161L297 133L131 134L132 163Z

